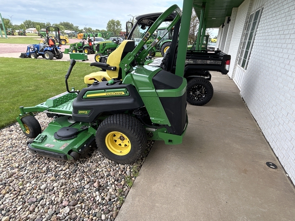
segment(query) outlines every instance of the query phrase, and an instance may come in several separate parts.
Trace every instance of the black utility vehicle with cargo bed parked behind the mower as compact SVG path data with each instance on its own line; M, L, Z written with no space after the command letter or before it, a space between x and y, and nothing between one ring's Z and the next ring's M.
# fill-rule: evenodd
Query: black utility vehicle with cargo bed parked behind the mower
M149 31L151 24L153 24L160 15L161 13L150 13L137 16L137 21L134 26L131 24L132 29L130 31L128 30L128 27L130 26L126 25L128 35L127 39L134 39L138 38L138 36L141 37L144 35L146 30ZM170 16L174 17L175 15L172 13ZM173 31L174 33L178 33L178 31L175 29ZM157 38L164 37L167 35L167 33L171 33L171 30L161 31L161 34L157 35ZM173 35L173 39L175 41L177 41L177 38L178 35ZM157 44L159 42L161 42L161 40L158 40L157 42L154 41L152 46L158 47ZM200 34L193 46L185 47L187 51L185 68L182 76L184 76L188 82L186 100L192 105L201 106L208 103L212 99L214 89L210 83L210 71L217 71L221 72L222 74L227 74L229 71L230 55L227 55L220 50L216 50L214 53L208 53L206 50L207 42L208 36ZM165 48L165 52L167 48ZM172 52L166 56L166 59L164 59L163 63L161 64L161 67L164 70L171 73L176 73L176 58L178 52L178 46L176 46L173 48ZM85 80L85 83L89 84L90 81Z

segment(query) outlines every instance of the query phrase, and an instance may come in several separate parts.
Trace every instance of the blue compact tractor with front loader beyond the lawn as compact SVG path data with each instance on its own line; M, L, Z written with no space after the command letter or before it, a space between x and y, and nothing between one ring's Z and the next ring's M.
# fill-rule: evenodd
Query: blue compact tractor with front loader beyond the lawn
M55 38L49 37L49 32L55 34ZM46 37L43 43L28 45L27 52L20 54L20 58L37 58L42 56L45 59L52 60L54 57L56 59L61 59L64 54L60 51L61 45L57 45L55 39L60 41L59 28L54 26L46 27Z

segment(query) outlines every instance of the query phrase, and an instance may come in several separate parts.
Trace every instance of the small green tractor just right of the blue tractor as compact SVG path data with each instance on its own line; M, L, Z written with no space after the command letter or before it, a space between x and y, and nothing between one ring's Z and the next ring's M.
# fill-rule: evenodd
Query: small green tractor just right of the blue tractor
M90 36L94 36L93 33L88 29L89 33L86 33L86 36L79 42L72 43L69 47L69 52L71 53L86 53L86 54L94 54L95 53L95 43L92 41Z

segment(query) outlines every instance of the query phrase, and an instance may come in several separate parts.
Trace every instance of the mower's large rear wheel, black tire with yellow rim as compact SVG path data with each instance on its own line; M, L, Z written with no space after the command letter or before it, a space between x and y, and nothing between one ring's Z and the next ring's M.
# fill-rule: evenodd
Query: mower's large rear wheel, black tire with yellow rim
M135 162L146 148L143 125L127 114L115 114L104 119L95 139L103 156L122 164Z

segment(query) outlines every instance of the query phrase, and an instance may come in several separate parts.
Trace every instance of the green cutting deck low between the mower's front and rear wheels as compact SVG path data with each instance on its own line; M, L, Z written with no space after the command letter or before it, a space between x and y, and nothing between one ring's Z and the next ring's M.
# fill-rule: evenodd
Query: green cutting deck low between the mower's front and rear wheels
M95 132L96 128L89 126L89 123L73 123L69 116L59 117L50 122L42 134L39 134L28 146L32 153L73 161L77 159L68 153L75 151L81 156L87 154L94 142Z

